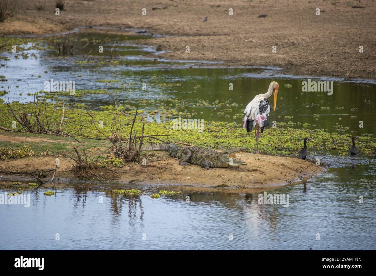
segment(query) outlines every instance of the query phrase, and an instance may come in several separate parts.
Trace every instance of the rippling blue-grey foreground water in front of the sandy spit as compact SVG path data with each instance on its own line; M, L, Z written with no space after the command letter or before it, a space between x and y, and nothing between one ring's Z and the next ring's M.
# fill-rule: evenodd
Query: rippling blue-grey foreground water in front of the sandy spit
M43 195L47 189L30 189L29 208L0 205L0 243L2 249L374 249L376 160L368 161L267 191L288 194L289 207L258 204L264 191L175 188L182 195L151 199L168 187L139 186L146 195L135 197L98 186L58 188L51 197ZM3 186L0 193L15 189Z

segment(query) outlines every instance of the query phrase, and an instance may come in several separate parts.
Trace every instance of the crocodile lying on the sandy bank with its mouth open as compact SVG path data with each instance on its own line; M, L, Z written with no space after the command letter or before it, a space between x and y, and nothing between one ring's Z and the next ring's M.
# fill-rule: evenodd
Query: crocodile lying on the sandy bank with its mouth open
M246 163L236 158L235 154L246 150L242 148L231 148L218 152L213 149L199 148L197 146L177 146L175 143L164 143L151 145L141 149L143 151L168 151L171 157L179 158L179 164L188 166L189 163L199 165L204 169L237 167ZM244 164L245 165L245 164Z

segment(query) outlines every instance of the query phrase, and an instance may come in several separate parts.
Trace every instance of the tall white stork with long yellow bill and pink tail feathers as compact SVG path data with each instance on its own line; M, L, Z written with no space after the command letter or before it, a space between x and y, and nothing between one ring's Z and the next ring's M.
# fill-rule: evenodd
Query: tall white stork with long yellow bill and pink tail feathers
M246 128L247 133L252 131L252 128L255 128L255 135L256 135L256 144L257 144L257 151L256 154L259 154L258 151L258 137L259 137L259 129L261 128L261 133L264 131L264 127L269 125L269 112L270 112L270 104L268 98L271 94L274 95L274 109L276 111L276 104L277 104L277 93L279 89L279 84L275 81L272 81L269 85L268 92L265 94L256 95L252 101L247 104L244 113L244 124L243 128ZM256 129L257 125L257 129Z

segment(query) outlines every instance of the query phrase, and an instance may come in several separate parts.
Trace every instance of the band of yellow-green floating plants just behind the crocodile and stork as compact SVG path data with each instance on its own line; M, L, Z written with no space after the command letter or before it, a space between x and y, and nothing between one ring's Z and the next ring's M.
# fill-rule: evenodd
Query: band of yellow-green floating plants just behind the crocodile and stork
M23 110L23 112L31 113L34 105L30 103L20 104L14 102L12 103L12 108L17 112ZM61 108L61 102L46 103L46 112L47 115L51 117L50 121L56 122L61 120ZM98 133L92 124L92 119L87 114L86 110L87 109L84 105L75 105L69 110L65 110L64 117L67 118L65 121L65 131L74 132L77 131L77 129L80 129L82 133L85 133L85 136L89 138L102 138L103 136ZM135 110L133 110L133 107L131 106L118 106L118 110L123 112L123 115L120 116L120 123L124 126L124 133L129 133L135 116ZM116 107L111 105L103 106L100 107L100 110L98 111L93 110L90 112L94 121L103 121L103 127L100 128L100 130L109 136L112 134L111 125L114 123L113 112L116 112ZM249 152L254 152L256 146L255 137L248 135L242 128L242 124L237 122L205 121L204 131L199 132L197 129L180 130L173 128L174 123L172 120L166 120L161 123L145 121L144 114L143 110L139 110L133 127L133 130L135 130L137 134L142 133L142 126L145 122L145 135L168 135L161 136L161 139L168 139L173 142L185 142L195 146L218 150L245 146ZM11 129L14 117L9 112L9 108L6 104L0 104L0 115L2 118L0 126ZM241 114L241 116L243 117L244 115ZM35 123L33 120L34 118L32 118L31 124ZM309 129L310 126L311 125L308 123L302 124L303 128L299 129L289 127L288 122L277 122L277 127L266 128L264 133L262 133L262 139L259 143L259 151L263 154L287 156L290 156L291 153L297 154L302 147L302 137L310 137L310 147L315 149L326 149L325 142L328 141L343 144L351 141L352 135L347 133L348 127L343 127L337 124L334 127L335 131L333 131L327 129ZM367 139L369 139L368 142L374 143L376 141L376 138L374 137L367 137ZM312 143L313 140L314 143ZM370 144L369 148L374 152L376 147L372 145L373 144ZM368 148L368 144L365 146L365 140L360 140L358 148L361 153L365 152L365 148ZM34 146L32 149L34 149ZM3 158L3 155L0 156ZM142 156L140 158L142 158Z

